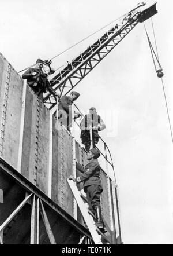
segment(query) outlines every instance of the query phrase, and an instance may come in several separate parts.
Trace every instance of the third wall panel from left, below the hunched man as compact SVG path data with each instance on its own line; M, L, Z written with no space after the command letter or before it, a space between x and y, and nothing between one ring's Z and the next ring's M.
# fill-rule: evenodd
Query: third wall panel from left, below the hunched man
M73 175L72 136L53 117L52 200L73 216L73 195L67 178Z

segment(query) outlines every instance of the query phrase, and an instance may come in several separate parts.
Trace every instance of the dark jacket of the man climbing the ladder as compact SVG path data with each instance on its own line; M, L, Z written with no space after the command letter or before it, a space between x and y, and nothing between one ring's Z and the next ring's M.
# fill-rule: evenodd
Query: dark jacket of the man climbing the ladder
M85 168L81 164L77 164L77 169L81 171L81 175L76 178L76 182L84 182L85 186L100 185L100 164L97 159L93 159L91 162L86 164Z

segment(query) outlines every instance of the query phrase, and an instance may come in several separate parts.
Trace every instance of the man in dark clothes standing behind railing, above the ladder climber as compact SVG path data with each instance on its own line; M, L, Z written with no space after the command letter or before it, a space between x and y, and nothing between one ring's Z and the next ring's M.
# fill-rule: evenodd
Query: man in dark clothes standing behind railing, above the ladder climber
M93 147L99 142L98 131L102 131L106 128L103 120L97 114L96 108L92 107L89 109L89 114L85 115L81 120L80 129L82 144L85 145L85 149L89 152L91 147L91 136L90 130L92 130Z

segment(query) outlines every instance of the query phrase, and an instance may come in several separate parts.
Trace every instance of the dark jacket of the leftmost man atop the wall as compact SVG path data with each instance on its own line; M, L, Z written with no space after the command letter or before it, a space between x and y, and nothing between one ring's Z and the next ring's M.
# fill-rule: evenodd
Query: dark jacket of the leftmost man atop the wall
M37 78L34 78L32 76L32 73L36 72L38 74ZM42 70L38 70L37 68L29 68L27 71L25 71L24 74L22 74L23 79L27 79L27 84L32 88L37 90L37 88L42 89L43 93L46 93L46 90L48 90L50 93L55 95L55 91L50 85L50 82L47 79L47 75L43 73ZM34 83L37 82L37 86L33 86Z

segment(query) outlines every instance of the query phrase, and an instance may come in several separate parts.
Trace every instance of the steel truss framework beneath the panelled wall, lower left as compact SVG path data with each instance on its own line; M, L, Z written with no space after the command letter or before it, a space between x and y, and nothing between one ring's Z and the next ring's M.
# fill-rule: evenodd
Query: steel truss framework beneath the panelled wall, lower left
M6 218L5 221L0 226L0 244L3 244L3 231L10 224L11 221L17 216L17 214L23 209L25 204L31 205L31 213L29 217L31 218L31 232L30 232L30 244L39 244L39 218L42 216L44 226L46 228L47 236L51 244L57 244L55 242L55 236L52 232L50 221L48 220L45 206L50 207L52 210L57 213L58 216L63 218L70 226L73 226L74 229L79 233L79 242L80 236L86 236L86 240L92 241L92 237L89 231L84 228L79 222L74 220L74 218L66 213L58 204L54 203L48 196L46 196L40 189L35 185L29 182L25 177L18 173L12 166L7 164L5 160L0 158L0 171L9 176L10 179L13 179L18 185L20 185L25 190L25 199L16 207L16 209Z

